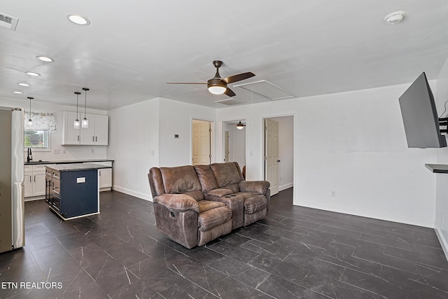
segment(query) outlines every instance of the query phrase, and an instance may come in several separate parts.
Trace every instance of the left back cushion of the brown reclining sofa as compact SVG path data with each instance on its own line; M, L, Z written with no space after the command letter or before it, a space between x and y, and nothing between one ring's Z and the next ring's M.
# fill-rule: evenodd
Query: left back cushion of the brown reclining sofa
M160 174L165 193L191 193L195 194L196 200L202 200L202 198L197 198L202 192L195 192L201 191L202 188L193 166L160 167Z

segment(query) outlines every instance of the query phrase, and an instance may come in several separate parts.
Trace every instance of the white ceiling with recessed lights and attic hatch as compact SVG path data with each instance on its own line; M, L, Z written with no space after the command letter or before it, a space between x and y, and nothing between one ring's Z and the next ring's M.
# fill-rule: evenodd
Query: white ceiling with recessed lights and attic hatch
M398 25L384 22L393 11L406 12ZM239 83L266 80L305 97L410 83L421 71L435 79L448 57L446 0L0 0L0 13L19 18L15 32L0 28L0 97L75 106L73 92L87 87L92 109L155 97L225 107L207 85L166 84L207 82L213 60L223 60L223 77L252 71Z

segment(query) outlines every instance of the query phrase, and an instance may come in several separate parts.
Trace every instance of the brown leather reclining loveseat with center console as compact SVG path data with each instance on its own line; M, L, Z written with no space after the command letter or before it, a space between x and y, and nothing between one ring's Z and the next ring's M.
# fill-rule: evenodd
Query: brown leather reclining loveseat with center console
M245 181L237 162L153 167L148 174L155 222L187 248L265 218L269 182Z

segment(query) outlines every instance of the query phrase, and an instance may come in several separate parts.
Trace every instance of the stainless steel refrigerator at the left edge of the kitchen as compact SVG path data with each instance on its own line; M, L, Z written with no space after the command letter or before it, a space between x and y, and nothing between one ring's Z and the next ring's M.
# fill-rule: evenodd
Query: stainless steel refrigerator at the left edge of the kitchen
M0 107L0 252L25 246L24 111Z

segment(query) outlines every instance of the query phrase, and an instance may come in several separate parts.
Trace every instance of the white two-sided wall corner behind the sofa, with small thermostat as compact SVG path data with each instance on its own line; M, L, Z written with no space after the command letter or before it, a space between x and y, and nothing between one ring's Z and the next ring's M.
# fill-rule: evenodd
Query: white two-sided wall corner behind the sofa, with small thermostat
M191 165L192 120L215 118L214 109L162 98L109 111L107 158L115 160L113 189L152 200L149 169Z

